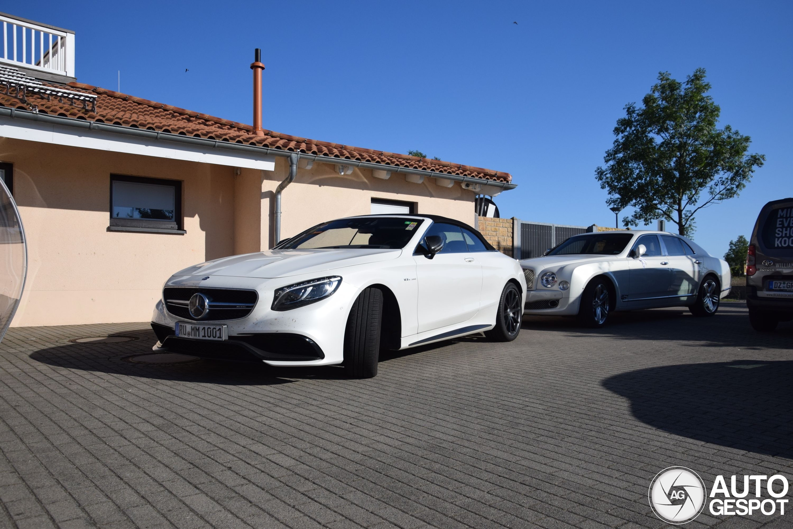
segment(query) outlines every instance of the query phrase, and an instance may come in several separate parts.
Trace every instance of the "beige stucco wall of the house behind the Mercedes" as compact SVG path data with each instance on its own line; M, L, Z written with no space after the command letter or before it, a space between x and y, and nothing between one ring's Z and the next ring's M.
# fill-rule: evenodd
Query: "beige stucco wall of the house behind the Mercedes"
M0 138L13 163L13 194L25 224L29 271L13 326L145 321L163 282L186 266L273 245L275 171L185 162ZM186 235L108 232L109 175L181 180ZM299 169L282 195L282 238L324 220L370 213L372 198L412 201L417 213L473 224L474 194L455 184L389 180L335 166Z

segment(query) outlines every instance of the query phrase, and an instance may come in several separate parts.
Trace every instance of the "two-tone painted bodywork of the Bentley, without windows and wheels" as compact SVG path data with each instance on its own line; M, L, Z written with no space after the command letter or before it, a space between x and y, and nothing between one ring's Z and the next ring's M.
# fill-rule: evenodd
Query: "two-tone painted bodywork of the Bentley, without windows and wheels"
M534 285L527 286L526 303L546 300L558 303L556 307L545 309L524 309L523 313L574 316L580 309L580 297L584 289L599 275L606 276L614 284L616 306L612 310L617 311L691 305L707 274L716 275L722 285L720 297L730 293L730 266L723 259L709 255L688 238L676 236L691 246L694 255L657 255L634 259L628 254L639 243L641 236L672 234L651 231L627 233L632 234L633 238L619 255L547 255L521 260L524 269L534 270ZM542 286L540 282L542 274L547 272L557 275L557 283L551 288ZM559 289L562 281L569 282L569 289Z

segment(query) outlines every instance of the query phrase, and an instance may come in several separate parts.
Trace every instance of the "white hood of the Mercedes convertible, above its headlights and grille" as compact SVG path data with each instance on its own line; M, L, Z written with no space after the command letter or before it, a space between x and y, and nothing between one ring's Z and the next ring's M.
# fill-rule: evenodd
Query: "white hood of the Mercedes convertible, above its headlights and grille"
M345 266L377 263L396 259L401 250L372 248L317 248L309 250L268 250L255 254L234 255L190 266L174 274L217 275L238 278L285 278Z

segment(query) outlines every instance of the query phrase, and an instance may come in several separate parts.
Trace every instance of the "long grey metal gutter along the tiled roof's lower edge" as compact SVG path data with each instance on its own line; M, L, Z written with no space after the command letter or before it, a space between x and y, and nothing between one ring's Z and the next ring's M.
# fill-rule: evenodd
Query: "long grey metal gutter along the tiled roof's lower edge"
M29 121L40 121L42 123L51 123L52 125L63 125L67 127L76 127L87 130L98 130L102 132L113 132L115 134L126 134L127 136L135 136L147 140L162 140L170 141L178 144L190 144L202 148L219 148L228 151L249 152L259 155L281 156L288 158L295 154L294 151L285 151L284 149L274 149L270 147L259 147L257 145L236 144L230 141L222 140L208 140L206 138L196 138L193 136L183 136L182 134L173 134L171 132L159 132L155 130L148 130L146 128L134 128L126 125L110 125L108 123L97 123L96 121L87 121L75 119L74 117L52 116L50 114L41 114L31 110L12 109L7 106L0 106L0 117L12 117L15 119L24 119ZM320 163L331 163L334 165L348 165L352 167L360 167L362 169L377 169L379 171L391 171L392 173L401 174L423 174L431 178L446 178L446 180L454 180L456 182L469 182L473 184L481 184L481 186L498 187L503 190L514 190L517 184L511 182L496 182L486 178L473 178L470 176L460 176L459 174L440 173L437 171L426 171L423 169L412 169L410 167L400 167L396 165L389 165L388 163L374 163L363 162L360 160L335 158L334 156L312 155L306 153L299 153L301 159L312 159Z

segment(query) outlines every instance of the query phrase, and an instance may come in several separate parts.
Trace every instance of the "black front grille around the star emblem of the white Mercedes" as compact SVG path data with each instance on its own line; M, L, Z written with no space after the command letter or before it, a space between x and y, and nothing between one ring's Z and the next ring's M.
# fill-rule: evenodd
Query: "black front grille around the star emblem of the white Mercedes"
M192 286L167 286L163 289L163 299L168 312L197 321L190 314L190 298L194 294L204 294L209 304L201 321L239 320L251 313L259 300L255 290L242 289L202 289Z

